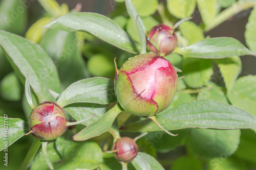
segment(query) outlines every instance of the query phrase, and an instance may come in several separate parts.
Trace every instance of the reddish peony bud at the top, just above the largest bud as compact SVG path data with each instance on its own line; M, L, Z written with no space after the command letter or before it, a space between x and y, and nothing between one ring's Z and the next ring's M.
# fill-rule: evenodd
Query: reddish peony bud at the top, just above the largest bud
M149 51L166 56L176 48L177 36L172 28L159 24L148 32L146 45Z

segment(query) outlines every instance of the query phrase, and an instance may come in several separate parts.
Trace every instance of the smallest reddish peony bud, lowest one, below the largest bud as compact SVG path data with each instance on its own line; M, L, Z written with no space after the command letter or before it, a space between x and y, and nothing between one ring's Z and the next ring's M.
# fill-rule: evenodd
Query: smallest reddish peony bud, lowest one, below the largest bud
M121 137L114 143L115 157L123 162L132 161L138 153L138 145L130 137Z

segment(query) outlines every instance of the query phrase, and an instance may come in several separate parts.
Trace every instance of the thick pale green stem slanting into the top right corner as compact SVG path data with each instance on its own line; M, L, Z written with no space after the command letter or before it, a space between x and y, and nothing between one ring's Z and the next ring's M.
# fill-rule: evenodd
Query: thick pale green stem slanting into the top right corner
M251 2L251 3L244 3L244 4L239 4L235 3L231 7L225 9L222 11L215 19L214 21L211 22L210 25L205 27L204 31L207 32L216 26L220 25L220 23L224 22L227 20L229 17L233 16L234 14L237 14L245 9L252 8L256 5L256 2Z

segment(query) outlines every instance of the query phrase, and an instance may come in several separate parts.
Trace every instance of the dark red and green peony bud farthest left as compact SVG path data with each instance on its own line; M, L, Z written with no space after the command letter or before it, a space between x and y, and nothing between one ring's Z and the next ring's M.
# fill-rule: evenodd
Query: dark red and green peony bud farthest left
M32 134L40 140L54 140L67 129L67 119L62 108L54 102L36 106L29 117Z

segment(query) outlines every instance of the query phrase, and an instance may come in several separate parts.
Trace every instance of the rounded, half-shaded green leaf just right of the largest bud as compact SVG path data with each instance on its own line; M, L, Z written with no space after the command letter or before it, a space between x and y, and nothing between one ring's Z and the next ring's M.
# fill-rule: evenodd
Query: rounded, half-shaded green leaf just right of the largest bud
M211 60L184 56L182 64L184 81L192 88L202 87L208 83L214 73Z

